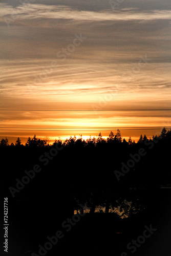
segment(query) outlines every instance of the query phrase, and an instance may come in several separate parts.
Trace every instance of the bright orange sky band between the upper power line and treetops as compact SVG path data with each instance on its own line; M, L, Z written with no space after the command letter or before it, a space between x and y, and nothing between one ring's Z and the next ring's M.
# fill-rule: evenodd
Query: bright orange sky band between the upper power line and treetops
M105 138L110 131L120 129L122 136L135 141L140 135L148 138L159 135L162 127L170 127L168 111L2 111L1 138L7 136L14 142L19 136L25 143L36 134L39 138L50 137L51 143L60 137L82 135ZM6 118L8 116L8 119ZM4 119L3 119L4 118Z

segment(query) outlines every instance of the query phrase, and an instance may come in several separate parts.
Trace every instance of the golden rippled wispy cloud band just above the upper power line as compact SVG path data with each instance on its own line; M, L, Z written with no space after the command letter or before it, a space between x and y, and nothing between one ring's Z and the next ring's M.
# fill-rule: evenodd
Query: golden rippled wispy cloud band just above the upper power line
M16 63L3 61L3 72L0 75L2 100L15 99L22 102L22 99L35 99L49 103L72 102L79 109L79 103L89 102L89 109L93 103L101 101L104 95L112 94L106 108L116 101L123 103L125 100L148 99L153 101L165 100L170 97L170 65L165 63L148 63L139 73L130 74L135 64L99 63L70 61L62 66L54 68L51 74L42 79L35 79L39 74L45 73L49 62L45 60L17 61ZM125 73L127 71L128 73ZM132 79L130 76L132 75ZM164 89L164 90L163 90ZM162 100L162 99L161 99ZM19 104L19 103L18 103ZM41 103L42 104L42 103ZM68 108L68 105L65 107Z

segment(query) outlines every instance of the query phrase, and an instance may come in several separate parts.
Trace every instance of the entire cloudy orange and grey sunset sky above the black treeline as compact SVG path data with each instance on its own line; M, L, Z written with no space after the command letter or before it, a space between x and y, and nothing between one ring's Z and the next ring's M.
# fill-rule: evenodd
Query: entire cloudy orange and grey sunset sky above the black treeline
M140 111L171 109L170 32L170 0L1 1L0 139L171 127Z

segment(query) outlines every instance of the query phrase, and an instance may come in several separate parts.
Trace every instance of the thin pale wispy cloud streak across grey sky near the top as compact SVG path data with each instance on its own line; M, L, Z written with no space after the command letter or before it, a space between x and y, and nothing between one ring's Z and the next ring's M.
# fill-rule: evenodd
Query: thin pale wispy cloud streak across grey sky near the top
M0 4L1 18L11 16L12 19L71 19L80 21L107 21L107 20L155 20L171 19L170 10L140 11L137 9L121 9L118 11L82 11L62 5L23 4L12 7Z

